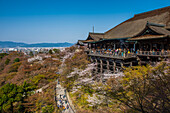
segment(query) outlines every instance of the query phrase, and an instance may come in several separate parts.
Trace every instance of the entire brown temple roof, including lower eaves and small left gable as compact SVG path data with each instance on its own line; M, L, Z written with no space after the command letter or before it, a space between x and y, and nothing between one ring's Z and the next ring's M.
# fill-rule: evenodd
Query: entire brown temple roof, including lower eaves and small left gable
M139 34L146 29L146 25L157 33L156 38L161 38L165 35L169 36L170 31L167 28L170 28L170 6L134 15L134 17L120 23L105 33L90 32L85 42L97 43L106 40L149 39L149 35L139 38ZM153 37L153 35L150 35L150 38L153 39Z

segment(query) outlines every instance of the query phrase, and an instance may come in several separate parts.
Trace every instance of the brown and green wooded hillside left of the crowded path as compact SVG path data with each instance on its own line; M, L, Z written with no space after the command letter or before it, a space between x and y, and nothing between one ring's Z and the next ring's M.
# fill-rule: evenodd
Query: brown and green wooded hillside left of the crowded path
M57 111L55 80L61 65L60 52L39 54L42 60L12 52L0 54L0 110L2 112ZM38 89L46 86L42 92Z

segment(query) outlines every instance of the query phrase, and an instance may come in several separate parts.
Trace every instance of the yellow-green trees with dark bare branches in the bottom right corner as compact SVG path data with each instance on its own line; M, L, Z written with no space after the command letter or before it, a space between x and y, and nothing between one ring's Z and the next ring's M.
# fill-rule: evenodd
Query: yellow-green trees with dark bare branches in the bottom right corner
M126 105L130 112L170 112L170 66L136 66L124 71L125 76L107 82L107 96Z

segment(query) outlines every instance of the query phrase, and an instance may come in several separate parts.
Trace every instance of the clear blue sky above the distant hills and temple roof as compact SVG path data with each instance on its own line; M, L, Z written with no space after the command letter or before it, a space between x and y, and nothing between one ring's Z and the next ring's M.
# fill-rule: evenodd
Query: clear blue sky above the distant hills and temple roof
M170 0L0 0L0 41L76 43Z

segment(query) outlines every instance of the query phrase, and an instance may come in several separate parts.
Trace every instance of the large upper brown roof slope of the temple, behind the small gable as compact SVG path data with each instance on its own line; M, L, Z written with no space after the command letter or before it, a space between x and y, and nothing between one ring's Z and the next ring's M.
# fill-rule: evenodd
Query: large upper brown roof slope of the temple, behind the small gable
M164 24L166 27L169 27L170 6L134 15L133 18L105 32L104 39L134 37L146 27L148 21L151 23ZM166 33L162 28L153 27L153 29Z

